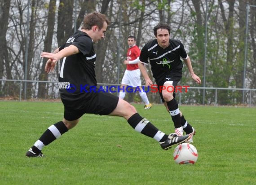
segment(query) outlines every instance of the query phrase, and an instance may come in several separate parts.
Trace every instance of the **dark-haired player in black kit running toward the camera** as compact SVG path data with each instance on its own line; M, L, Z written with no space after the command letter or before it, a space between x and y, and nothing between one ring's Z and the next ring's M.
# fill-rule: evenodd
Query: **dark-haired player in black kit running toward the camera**
M191 143L193 142L195 129L185 120L175 100L175 91L172 91L182 77L183 64L180 59L181 57L188 67L192 79L198 84L201 83L201 79L194 74L190 57L187 55L181 41L170 39L171 27L168 24L159 23L154 27L153 31L155 39L146 43L141 49L141 62L139 63L141 74L146 81L146 86L153 85L144 65L150 63L160 97L172 117L176 135L182 136L184 130L187 134L191 135L188 140ZM168 88L170 86L172 88ZM160 92L160 87L163 87L162 92Z

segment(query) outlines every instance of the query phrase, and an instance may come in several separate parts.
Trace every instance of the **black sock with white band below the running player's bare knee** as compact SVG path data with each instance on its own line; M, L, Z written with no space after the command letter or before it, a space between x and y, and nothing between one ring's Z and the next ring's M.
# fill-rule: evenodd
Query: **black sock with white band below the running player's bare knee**
M167 106L174 123L174 128L181 127L181 116L177 101L173 98L171 101L167 102Z

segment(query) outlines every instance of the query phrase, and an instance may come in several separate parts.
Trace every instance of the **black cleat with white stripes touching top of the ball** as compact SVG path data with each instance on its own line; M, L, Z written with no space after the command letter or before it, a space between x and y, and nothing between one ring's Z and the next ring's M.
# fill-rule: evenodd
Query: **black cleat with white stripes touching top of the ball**
M184 143L190 139L190 135L177 136L175 133L172 133L168 136L167 140L160 143L163 150L168 150L172 145Z

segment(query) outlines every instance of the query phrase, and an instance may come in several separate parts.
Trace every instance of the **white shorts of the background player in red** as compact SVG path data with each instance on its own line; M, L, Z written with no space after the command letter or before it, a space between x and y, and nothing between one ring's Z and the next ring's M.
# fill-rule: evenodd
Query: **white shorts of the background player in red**
M125 70L121 84L136 88L141 86L141 70Z

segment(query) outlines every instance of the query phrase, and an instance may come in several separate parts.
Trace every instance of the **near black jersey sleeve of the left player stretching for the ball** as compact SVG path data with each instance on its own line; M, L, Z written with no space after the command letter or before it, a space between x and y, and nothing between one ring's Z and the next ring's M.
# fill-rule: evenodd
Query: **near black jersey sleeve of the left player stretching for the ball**
M72 45L76 46L83 55L87 55L93 48L93 40L86 35L80 35L75 38Z

